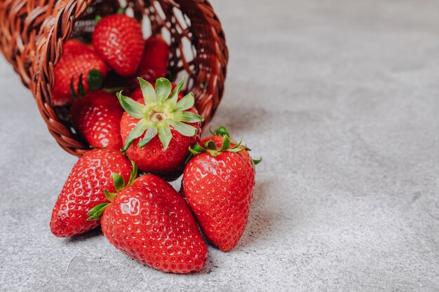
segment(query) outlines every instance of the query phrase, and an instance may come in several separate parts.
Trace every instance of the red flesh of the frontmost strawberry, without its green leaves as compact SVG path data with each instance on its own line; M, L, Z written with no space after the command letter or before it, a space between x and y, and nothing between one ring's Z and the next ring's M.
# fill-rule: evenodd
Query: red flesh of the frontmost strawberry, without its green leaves
M198 272L208 259L184 198L157 176L140 176L114 198L102 232L123 253L164 272Z

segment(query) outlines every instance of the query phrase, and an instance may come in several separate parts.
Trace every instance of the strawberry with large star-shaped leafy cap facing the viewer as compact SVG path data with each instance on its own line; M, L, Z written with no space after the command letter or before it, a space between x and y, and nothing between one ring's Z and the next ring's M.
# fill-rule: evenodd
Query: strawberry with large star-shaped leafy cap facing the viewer
M184 81L172 92L166 78L157 79L155 90L151 83L139 81L141 99L117 94L126 110L121 119L123 151L143 172L176 179L190 154L189 146L200 139L203 117L194 108L192 93L179 100Z

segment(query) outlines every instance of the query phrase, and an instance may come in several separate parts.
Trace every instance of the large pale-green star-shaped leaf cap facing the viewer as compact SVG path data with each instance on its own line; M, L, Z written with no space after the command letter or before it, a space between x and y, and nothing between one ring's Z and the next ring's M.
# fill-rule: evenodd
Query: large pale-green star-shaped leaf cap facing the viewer
M121 106L128 115L139 119L137 125L128 134L122 152L125 152L133 144L133 141L142 135L143 138L139 142L140 148L146 146L149 141L158 135L163 150L166 151L173 138L170 131L171 127L187 137L196 135L196 127L189 124L202 122L204 118L187 111L195 104L195 97L192 92L189 92L180 101L178 100L178 94L182 90L184 80L172 90L172 84L168 79L158 78L154 90L151 83L144 81L142 78L138 79L145 104L135 102L130 97L122 95L122 92L116 94Z

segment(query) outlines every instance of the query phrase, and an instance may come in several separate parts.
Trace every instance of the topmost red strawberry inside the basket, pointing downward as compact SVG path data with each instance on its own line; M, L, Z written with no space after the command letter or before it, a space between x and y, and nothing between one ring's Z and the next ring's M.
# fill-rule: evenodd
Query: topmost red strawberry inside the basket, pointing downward
M92 35L95 50L121 76L131 76L142 60L142 26L125 14L109 15L97 23Z

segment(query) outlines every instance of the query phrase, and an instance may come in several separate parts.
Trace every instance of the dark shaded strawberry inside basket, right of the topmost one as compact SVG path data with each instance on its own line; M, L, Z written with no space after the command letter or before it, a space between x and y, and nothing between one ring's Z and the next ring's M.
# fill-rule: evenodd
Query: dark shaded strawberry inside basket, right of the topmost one
M168 71L170 48L160 37L151 36L145 41L144 53L136 76L154 82ZM137 81L137 80L136 80Z

